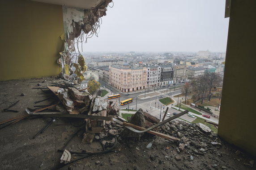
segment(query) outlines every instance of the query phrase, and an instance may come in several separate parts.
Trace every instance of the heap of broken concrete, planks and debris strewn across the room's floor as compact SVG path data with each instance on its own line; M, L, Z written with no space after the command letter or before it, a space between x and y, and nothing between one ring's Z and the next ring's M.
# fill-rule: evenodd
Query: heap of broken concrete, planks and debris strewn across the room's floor
M39 166L40 169L76 170L256 169L252 157L222 141L204 124L189 124L175 119L180 115L161 122L142 109L127 122L120 117L118 104L103 100L99 90L90 95L85 89L79 90L70 85L57 87L56 84L55 87L42 84L40 88L44 90L40 90L44 96L37 94L40 101L34 102L44 101L44 104L50 105L37 104L41 108L26 109L27 113L22 115L24 108L23 113L19 113L18 108L33 103L33 99L30 102L22 100L30 99L31 89L22 89L16 94L24 92L26 95L16 98L2 109L13 114L17 112L17 117L8 114L9 119L0 122L0 127L26 119L9 126L9 129L2 129L4 156L1 158L8 158L4 164L9 163L11 158L20 159L19 162L26 158L26 163L13 163L13 166L16 169L27 169L29 166L38 169ZM40 91L39 87L33 88L37 89L34 90L36 92ZM49 93L46 94L46 91ZM42 97L46 99L42 100ZM22 156L22 161L17 155ZM86 158L88 156L90 158Z

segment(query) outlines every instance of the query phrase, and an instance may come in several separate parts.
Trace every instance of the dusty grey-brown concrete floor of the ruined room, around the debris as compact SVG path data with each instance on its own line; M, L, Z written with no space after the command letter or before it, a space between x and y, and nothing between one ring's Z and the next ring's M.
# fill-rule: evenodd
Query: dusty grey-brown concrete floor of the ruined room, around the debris
M43 80L47 82L42 83ZM44 93L42 90L32 87L45 87L54 85L61 81L57 78L24 79L0 82L0 110L8 108L11 104L20 100L15 106L9 108L19 112L0 112L0 122L26 114L25 108L37 108L35 105L47 105L53 103L54 96ZM37 86L41 83L42 86ZM25 96L21 96L25 93ZM35 101L47 99L41 103ZM35 139L33 136L42 129L51 118L25 119L16 124L0 129L0 169L6 170L55 170L61 167L61 154L58 149L68 141L78 127L73 125L81 124L81 121L57 118L50 127ZM68 125L57 125L68 124ZM73 124L73 125L72 125ZM2 126L0 126L2 127ZM204 136L203 136L204 137ZM211 140L205 136L204 140ZM146 149L146 145L154 140L153 148ZM195 138L193 138L195 140ZM197 142L195 140L195 142ZM248 166L255 158L246 153L235 154L237 148L222 141L221 147L211 146L204 155L193 154L191 148L186 147L181 153L176 151L176 143L168 143L164 139L153 136L143 136L139 141L121 140L119 138L115 149L109 153L90 156L61 169L105 169L105 170L251 170L254 166ZM100 145L94 147L81 145L81 134L78 134L67 146L68 150L89 151L101 150ZM190 156L193 156L193 160ZM179 156L181 160L176 160ZM73 156L79 158L79 156ZM248 165L246 165L248 164ZM226 167L226 168L225 168Z

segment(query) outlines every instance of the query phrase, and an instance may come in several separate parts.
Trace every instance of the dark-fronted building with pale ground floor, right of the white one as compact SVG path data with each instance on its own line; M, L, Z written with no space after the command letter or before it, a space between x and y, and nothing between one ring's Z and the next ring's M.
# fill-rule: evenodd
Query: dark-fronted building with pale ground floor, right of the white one
M173 83L174 67L172 65L161 65L160 85Z

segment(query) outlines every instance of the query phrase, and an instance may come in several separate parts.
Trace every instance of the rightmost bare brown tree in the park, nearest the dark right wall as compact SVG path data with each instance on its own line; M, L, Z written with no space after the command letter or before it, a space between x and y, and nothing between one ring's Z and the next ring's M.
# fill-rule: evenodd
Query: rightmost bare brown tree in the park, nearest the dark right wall
M217 85L218 81L221 79L220 75L218 73L205 73L205 75L202 76L202 80L208 85L209 88L209 101L211 100L211 90L212 88Z

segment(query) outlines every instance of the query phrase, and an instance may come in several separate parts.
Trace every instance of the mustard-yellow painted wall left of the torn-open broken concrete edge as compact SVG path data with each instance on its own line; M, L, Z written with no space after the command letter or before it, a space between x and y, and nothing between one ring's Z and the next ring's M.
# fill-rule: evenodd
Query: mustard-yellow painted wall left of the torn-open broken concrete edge
M58 75L64 42L62 6L0 1L0 80Z

